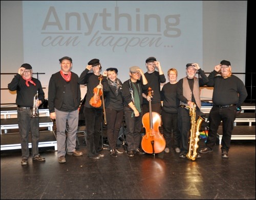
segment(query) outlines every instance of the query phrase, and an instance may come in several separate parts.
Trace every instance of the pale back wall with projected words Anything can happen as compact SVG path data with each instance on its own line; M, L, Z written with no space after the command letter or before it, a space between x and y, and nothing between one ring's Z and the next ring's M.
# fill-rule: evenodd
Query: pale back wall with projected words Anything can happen
M178 80L193 62L210 72L225 59L233 72L245 72L246 17L247 1L1 1L1 73L31 64L44 73L38 79L47 98L63 56L78 76L98 58L102 72L116 67L122 82L131 66L146 72L151 56L165 74L176 68ZM13 76L1 74L1 104L15 103L6 90Z

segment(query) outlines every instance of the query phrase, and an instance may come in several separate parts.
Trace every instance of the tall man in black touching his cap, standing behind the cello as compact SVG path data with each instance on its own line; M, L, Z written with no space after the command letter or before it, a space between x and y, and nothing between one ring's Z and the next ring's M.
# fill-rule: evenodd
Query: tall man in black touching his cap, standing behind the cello
M161 114L161 95L160 95L160 85L161 83L165 83L166 79L164 73L162 71L162 67L160 62L157 61L155 57L149 57L145 61L147 72L144 73L146 80L148 82L148 87L151 87L153 91L152 99L148 96L148 88L143 90L143 115L149 112L149 103L148 101L151 99L152 111ZM158 71L156 71L156 68Z

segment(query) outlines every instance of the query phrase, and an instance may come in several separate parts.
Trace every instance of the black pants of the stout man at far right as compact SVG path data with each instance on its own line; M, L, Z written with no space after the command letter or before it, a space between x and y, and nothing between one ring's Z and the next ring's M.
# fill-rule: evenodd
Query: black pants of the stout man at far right
M222 121L223 133L221 140L221 149L228 152L231 141L231 134L234 128L234 120L237 115L237 107L230 106L226 108L219 108L213 106L209 113L209 132L206 141L206 146L212 149L216 143L217 131Z

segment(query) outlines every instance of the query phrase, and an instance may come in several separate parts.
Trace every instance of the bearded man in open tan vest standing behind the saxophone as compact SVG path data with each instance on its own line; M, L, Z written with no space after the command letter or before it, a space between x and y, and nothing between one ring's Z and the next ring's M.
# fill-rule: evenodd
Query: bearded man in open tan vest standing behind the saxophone
M197 70L200 78L195 77ZM186 158L188 153L187 144L190 135L191 109L195 110L195 120L197 120L198 116L200 116L201 109L200 87L208 82L204 71L197 63L186 64L186 73L187 77L179 80L177 89L177 96L180 101L180 107L178 108L178 126L181 133L180 158ZM196 124L193 125L195 126ZM197 154L196 157L200 158L201 156Z

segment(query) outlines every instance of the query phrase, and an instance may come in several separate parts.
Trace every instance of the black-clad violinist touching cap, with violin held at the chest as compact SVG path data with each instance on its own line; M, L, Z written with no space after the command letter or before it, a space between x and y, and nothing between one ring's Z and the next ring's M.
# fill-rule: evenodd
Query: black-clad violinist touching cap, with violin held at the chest
M86 120L86 144L88 157L97 160L103 158L98 153L103 114L102 84L103 76L100 74L99 59L88 62L86 69L81 73L78 84L87 85L86 102L84 103L84 118ZM92 72L90 72L92 70ZM90 72L90 73L89 73Z

